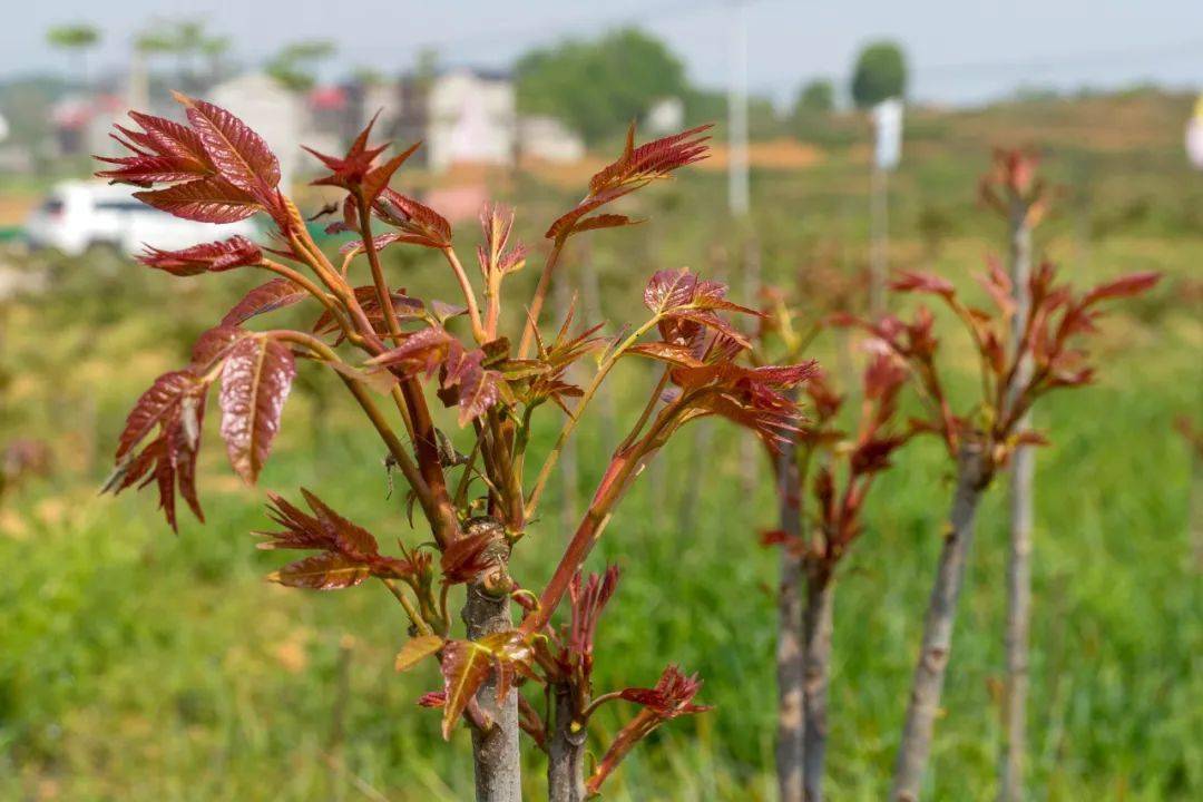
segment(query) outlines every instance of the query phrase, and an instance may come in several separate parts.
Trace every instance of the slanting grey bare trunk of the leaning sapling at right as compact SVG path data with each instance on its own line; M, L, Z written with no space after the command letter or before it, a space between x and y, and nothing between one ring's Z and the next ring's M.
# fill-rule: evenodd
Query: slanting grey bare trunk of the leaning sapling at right
M911 701L894 767L890 798L895 802L917 802L919 798L919 788L931 753L931 735L940 709L940 696L944 689L956 602L965 578L970 546L973 542L973 518L982 491L989 480L980 447L964 446L958 459L956 494L949 516L948 534L940 553L936 584L928 602L923 647L911 683Z

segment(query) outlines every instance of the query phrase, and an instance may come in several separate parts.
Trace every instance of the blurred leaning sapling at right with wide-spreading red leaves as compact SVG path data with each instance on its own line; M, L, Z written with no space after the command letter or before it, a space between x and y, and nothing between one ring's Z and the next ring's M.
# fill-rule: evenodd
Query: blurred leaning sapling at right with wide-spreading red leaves
M1020 337L1007 344L1015 303L1011 279L996 263L990 263L986 274L979 277L994 303L992 311L967 305L953 285L940 277L901 273L893 281L893 290L938 297L968 331L978 354L982 387L968 415L953 412L936 366L935 317L925 307L918 308L912 322L894 316L878 322L843 321L867 331L873 347L909 367L930 414L926 421L912 426L937 434L956 464L956 488L924 620L890 798L901 802L919 798L982 493L1018 446L1044 442L1039 434L1020 428L1032 404L1054 390L1090 384L1094 368L1079 343L1097 331L1100 307L1144 292L1158 278L1155 273L1136 273L1075 293L1056 281L1051 265L1043 263L1027 284L1031 305ZM1025 376L1026 361L1031 362L1031 373Z

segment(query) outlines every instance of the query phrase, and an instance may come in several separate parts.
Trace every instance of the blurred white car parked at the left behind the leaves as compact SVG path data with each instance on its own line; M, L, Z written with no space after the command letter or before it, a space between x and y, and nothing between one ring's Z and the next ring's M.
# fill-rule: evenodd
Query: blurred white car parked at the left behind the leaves
M178 250L259 228L251 220L214 225L184 220L134 197L137 188L102 182L66 182L52 189L25 221L30 246L54 248L81 256L89 248L107 246L135 255L147 245Z

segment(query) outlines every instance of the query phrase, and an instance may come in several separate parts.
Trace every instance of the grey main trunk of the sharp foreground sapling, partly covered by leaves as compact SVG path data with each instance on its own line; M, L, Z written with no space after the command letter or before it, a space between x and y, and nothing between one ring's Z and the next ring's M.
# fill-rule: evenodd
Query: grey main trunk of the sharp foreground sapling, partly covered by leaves
M478 519L481 521L481 519ZM500 534L500 527L492 522ZM469 524L469 534L472 524ZM502 571L509 559L509 547L503 539L493 545L496 562ZM488 572L496 572L498 568ZM479 640L493 632L514 629L510 617L509 594L496 594L486 587L482 574L468 586L468 599L463 606L463 623L470 640ZM518 691L511 689L509 695L497 703L497 676L488 679L476 691L476 703L488 714L493 725L487 730L474 727L472 731L472 756L476 774L476 802L521 802L522 800L522 764L518 753Z

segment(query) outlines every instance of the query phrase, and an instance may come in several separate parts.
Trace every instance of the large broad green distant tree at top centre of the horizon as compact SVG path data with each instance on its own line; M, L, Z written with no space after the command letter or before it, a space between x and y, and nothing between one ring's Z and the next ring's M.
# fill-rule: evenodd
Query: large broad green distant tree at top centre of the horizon
M591 142L623 130L654 100L688 91L681 60L634 28L533 51L516 72L523 112L557 117Z

